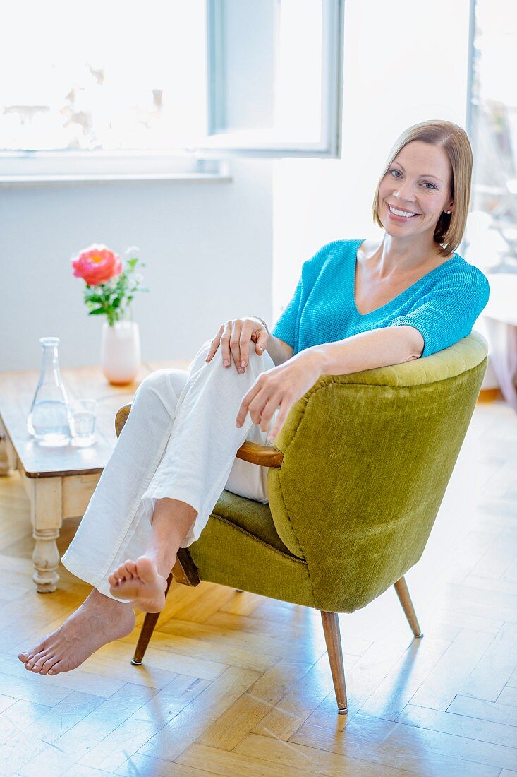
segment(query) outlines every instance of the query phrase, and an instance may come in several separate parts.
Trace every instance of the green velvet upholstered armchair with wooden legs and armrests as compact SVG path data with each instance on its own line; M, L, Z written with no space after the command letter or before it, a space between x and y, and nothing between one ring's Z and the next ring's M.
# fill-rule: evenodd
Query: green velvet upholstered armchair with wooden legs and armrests
M422 636L404 573L422 556L487 366L476 332L423 359L321 375L293 405L274 448L238 458L268 466L269 504L224 490L172 575L210 580L321 611L338 712L346 712L338 612L394 585ZM116 415L120 434L130 405ZM148 614L141 664L158 614Z

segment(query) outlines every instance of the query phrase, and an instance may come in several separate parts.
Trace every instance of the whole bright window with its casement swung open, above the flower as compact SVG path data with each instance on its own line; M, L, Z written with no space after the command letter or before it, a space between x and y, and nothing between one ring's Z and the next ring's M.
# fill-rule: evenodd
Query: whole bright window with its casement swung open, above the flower
M0 179L340 155L342 0L91 0L80 17L31 0L7 16L23 45L0 48Z

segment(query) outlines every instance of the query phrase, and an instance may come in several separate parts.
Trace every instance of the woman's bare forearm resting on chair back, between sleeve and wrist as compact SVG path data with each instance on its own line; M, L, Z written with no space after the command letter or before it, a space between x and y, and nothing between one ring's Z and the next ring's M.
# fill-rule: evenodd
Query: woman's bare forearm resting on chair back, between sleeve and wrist
M321 375L346 375L402 364L422 356L424 338L414 326L385 326L346 337L335 343L324 343L300 351L319 360Z

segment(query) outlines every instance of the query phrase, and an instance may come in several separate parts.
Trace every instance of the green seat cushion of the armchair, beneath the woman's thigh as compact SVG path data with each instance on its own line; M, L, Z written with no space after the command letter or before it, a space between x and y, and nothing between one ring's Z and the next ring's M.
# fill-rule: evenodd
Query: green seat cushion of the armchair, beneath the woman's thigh
M246 497L240 497L236 493L224 490L217 500L212 514L224 518L225 521L230 521L231 524L248 531L262 542L288 556L302 558L302 556L295 556L279 538L269 504L255 502L255 500L246 499Z

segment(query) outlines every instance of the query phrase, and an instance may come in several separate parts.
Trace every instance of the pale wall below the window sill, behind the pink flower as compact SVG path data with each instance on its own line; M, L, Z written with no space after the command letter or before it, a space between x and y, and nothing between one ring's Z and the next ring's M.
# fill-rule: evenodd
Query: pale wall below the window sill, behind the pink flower
M232 183L44 184L0 188L0 370L99 364L105 316L89 316L70 257L92 242L139 246L144 361L190 359L227 318L271 319L272 162L232 160Z

